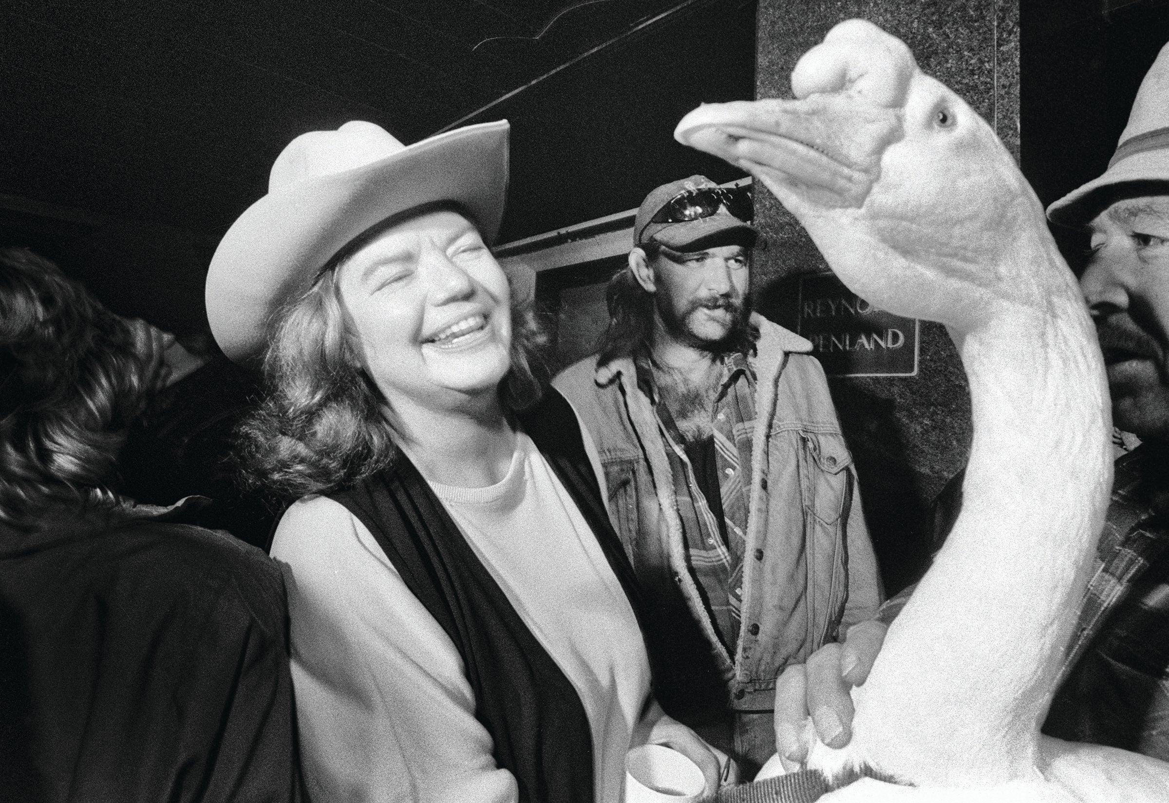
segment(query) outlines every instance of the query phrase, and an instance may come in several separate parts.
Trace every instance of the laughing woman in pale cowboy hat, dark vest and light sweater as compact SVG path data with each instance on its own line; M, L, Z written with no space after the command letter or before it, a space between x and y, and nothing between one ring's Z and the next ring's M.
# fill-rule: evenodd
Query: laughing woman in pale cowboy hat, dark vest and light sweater
M650 694L596 455L528 370L485 244L506 169L506 123L311 132L212 263L215 336L269 384L250 463L299 497L272 556L314 799L607 803L646 741L718 783Z

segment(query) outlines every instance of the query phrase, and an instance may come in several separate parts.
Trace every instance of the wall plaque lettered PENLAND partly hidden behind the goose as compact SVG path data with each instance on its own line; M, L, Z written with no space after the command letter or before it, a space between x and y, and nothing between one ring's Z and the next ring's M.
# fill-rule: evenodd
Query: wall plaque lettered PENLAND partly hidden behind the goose
M877 309L833 273L800 279L796 330L829 376L916 376L919 326Z

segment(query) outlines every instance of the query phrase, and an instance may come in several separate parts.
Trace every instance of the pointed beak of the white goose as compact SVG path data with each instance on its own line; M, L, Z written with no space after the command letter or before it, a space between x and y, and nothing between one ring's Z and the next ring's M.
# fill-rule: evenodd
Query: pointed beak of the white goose
M833 92L703 105L682 119L673 135L749 173L769 175L815 203L860 207L901 125L894 110Z

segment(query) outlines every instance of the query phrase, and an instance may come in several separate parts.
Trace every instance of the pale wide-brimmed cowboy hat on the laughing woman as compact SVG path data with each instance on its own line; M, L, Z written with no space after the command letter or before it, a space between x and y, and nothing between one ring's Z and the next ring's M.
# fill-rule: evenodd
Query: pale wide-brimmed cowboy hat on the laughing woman
M458 203L490 245L507 193L506 120L404 146L354 120L310 131L272 165L268 195L231 224L207 272L207 319L223 352L260 354L272 313L311 286L328 260L392 215Z

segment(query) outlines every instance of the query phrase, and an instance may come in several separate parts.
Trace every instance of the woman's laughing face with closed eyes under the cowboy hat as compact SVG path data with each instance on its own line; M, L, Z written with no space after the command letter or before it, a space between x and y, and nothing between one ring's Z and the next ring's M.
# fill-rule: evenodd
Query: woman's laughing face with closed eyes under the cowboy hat
M338 268L354 350L392 409L462 406L511 368L507 279L451 210L386 229Z

